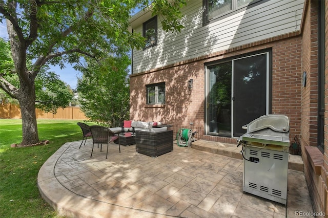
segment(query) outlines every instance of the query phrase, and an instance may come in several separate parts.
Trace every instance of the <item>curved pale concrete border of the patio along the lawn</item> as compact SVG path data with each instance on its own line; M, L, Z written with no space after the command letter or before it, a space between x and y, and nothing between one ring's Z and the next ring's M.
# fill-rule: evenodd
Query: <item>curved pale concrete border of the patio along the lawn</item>
M57 160L72 142L61 146L40 168L37 187L41 197L59 214L66 217L169 217L158 213L121 207L106 202L81 197L68 190L56 179ZM109 209L110 208L110 209Z

